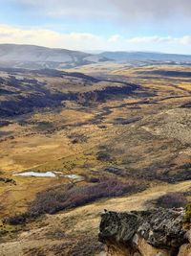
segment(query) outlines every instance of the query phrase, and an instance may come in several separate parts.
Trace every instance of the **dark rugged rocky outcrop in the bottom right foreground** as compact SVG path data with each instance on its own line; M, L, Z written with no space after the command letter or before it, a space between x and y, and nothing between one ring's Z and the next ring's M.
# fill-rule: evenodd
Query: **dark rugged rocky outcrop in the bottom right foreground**
M105 212L99 241L107 256L191 256L190 227L183 211Z

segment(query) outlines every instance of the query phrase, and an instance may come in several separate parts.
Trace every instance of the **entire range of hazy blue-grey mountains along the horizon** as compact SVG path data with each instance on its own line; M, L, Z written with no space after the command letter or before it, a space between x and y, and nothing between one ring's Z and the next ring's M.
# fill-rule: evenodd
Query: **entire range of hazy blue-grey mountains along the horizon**
M0 67L24 69L73 68L102 61L191 63L191 56L149 52L84 53L35 45L0 44Z

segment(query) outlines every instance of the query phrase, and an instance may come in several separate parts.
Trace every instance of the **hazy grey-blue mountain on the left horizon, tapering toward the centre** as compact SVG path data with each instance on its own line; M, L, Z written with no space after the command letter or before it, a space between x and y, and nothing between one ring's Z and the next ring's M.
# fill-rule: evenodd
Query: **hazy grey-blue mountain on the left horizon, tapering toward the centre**
M0 44L0 66L20 68L73 67L107 60L99 55L34 45Z

